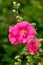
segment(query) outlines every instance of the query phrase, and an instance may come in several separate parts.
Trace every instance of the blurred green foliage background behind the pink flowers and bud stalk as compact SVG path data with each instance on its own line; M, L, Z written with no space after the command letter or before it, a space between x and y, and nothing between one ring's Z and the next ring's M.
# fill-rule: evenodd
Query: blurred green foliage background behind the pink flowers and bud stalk
M0 65L13 65L14 57L24 47L14 46L8 40L8 28L16 23L13 1L21 4L19 14L26 16L24 20L36 23L37 37L43 38L43 0L0 0Z

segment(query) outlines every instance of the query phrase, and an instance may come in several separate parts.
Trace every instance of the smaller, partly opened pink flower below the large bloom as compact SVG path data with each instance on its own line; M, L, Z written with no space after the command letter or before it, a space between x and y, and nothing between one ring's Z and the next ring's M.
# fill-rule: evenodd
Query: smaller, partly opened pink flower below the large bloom
M30 53L37 53L40 47L40 41L35 38L31 43L27 43L28 52Z

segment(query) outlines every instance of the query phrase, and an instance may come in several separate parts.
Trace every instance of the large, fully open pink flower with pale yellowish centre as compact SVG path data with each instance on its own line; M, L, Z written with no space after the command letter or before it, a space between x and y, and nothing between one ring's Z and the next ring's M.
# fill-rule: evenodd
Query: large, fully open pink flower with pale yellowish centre
M9 40L12 44L28 43L33 40L36 30L27 21L17 23L15 26L9 27Z

